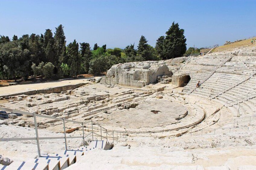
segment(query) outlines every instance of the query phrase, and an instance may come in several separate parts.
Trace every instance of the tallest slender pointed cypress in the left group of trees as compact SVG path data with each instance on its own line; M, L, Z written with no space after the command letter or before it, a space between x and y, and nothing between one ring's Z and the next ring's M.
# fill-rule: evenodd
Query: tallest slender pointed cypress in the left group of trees
M63 60L63 53L65 51L66 47L66 37L64 35L63 26L60 24L56 29L56 32L54 33L54 49L55 49L55 55L56 59L53 63L55 66L59 65L59 62L61 64L61 61Z

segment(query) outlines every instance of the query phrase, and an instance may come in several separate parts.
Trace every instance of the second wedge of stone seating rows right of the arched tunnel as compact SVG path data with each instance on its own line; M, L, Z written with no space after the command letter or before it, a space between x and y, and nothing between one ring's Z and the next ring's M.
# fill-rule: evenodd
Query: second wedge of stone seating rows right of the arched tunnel
M234 56L230 61L216 69L216 72L201 85L201 88L192 93L202 97L217 97L219 94L249 80L251 76L255 75L255 70L256 57ZM251 86L254 87L254 84Z

